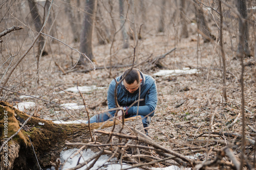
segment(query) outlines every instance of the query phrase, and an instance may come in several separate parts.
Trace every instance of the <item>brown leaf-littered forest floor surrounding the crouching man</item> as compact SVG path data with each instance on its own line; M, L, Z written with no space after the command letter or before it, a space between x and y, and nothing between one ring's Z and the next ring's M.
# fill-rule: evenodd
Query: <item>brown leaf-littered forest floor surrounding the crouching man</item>
M157 34L155 36L145 35L138 43L138 56L140 62L151 56L148 62L140 67L144 74L151 75L155 80L158 88L158 105L154 117L152 117L149 136L156 142L167 148L183 148L193 147L195 145L205 144L207 136L198 135L208 132L209 128L212 132L229 132L242 134L242 115L241 113L241 61L236 58L236 48L230 45L229 36L225 38L225 56L226 56L226 92L227 99L223 98L223 79L222 68L220 66L221 55L216 42L204 43L202 37L198 42L197 35L191 35L189 38L177 41L171 36ZM176 42L175 42L176 41ZM121 42L114 45L112 50L112 65L131 64L133 61L134 51L130 47L128 49L121 48ZM131 40L130 43L133 43ZM74 48L78 48L77 44L72 44ZM94 46L94 63L95 66L110 65L110 46L95 45ZM149 61L161 56L164 53L176 50L159 61L162 68ZM232 47L234 49L232 49ZM54 55L42 57L39 69L39 84L35 79L29 79L33 76L33 69L29 69L24 73L24 81L22 86L28 88L19 88L19 92L30 95L37 95L41 99L45 99L58 105L75 103L80 107L76 110L65 110L52 103L41 101L33 98L20 98L18 93L7 93L5 99L13 102L36 102L35 107L26 109L28 114L37 114L41 118L51 120L69 121L76 117L79 120L87 120L87 113L84 109L81 96L78 92L68 93L62 90L70 87L90 86L95 87L92 90L83 92L86 99L86 105L89 109L90 116L103 112L108 109L106 105L106 94L108 86L113 77L119 76L127 67L113 68L111 76L109 69L96 69L95 71L80 72L82 67L75 67L67 74L62 74L55 62L66 71L75 64L77 54L70 48L55 43L51 47ZM61 49L61 50L59 50ZM254 65L250 64L252 58L245 58L247 63L244 71L244 95L245 95L245 117L246 117L246 136L250 136L252 132L248 127L256 129L256 84L255 76L253 76ZM27 58L27 62L29 59ZM73 65L72 65L73 64ZM33 66L35 67L35 66ZM197 68L196 74L177 74L172 76L154 76L160 69L183 69ZM26 68L20 67L24 71ZM26 77L28 76L28 77ZM32 77L31 76L31 77ZM37 90L36 90L37 89ZM75 94L75 95L74 95ZM74 104L74 105L75 105ZM71 115L72 116L71 116ZM228 129L225 126L232 123L239 116L238 121ZM209 126L210 125L210 126ZM200 142L189 142L188 139L202 139ZM229 137L225 140L232 142ZM211 136L210 139L222 139L221 136ZM218 143L216 147L221 147ZM241 145L234 150L236 154L240 153ZM251 145L247 147L250 149ZM249 150L251 155L252 150ZM204 157L204 156L203 156ZM199 158L203 159L203 158Z

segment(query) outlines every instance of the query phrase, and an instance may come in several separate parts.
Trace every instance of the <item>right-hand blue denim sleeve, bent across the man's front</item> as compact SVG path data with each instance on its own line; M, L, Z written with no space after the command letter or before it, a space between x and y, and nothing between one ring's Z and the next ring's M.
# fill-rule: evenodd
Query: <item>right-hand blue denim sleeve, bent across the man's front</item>
M138 114L144 116L154 116L155 109L157 106L157 86L156 82L152 84L150 89L148 89L146 96L145 96L145 106L133 106L128 110L128 114Z

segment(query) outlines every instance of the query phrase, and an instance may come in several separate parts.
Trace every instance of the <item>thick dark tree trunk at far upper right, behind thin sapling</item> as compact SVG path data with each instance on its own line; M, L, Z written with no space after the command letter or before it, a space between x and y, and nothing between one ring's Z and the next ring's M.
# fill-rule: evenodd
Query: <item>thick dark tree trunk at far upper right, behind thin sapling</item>
M247 8L246 8L246 1L245 0L237 0L237 8L238 11L242 17L242 19L245 20L245 25L244 25L244 29L242 29L242 19L239 19L239 34L243 35L243 42L241 42L242 40L239 39L238 42L238 53L239 50L241 49L242 43L244 44L244 53L246 56L251 56L250 54L250 50L249 50L249 45L248 45L248 41L249 41L249 29L248 29L248 22L247 22ZM242 32L242 30L244 30Z

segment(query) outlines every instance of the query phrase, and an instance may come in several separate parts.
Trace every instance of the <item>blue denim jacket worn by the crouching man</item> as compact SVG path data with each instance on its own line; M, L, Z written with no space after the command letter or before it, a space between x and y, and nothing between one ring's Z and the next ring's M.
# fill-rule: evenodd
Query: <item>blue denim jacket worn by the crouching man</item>
M132 103L134 103L136 100L144 99L143 101L139 102L139 110L138 109L138 103L136 102L128 111L128 115L144 115L144 116L154 116L155 109L157 106L157 86L155 79L153 79L149 75L144 75L140 71L140 76L142 78L142 82L140 84L140 95L139 95L139 89L137 89L134 93L130 93L127 91L123 85L123 82L121 82L117 87L117 101L118 104L122 107L130 107ZM122 75L115 78L116 81L120 81L122 79ZM116 86L116 81L112 80L109 86L108 90L108 106L109 109L115 108L115 99L114 99L114 91ZM116 111L110 111L110 114L112 116L115 115Z

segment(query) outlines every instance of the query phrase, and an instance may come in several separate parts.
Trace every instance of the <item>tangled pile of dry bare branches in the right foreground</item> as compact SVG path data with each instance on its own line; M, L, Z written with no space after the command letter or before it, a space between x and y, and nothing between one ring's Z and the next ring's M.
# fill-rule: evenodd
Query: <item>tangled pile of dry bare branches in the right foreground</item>
M238 153L239 150L233 151L241 147L241 135L236 133L212 132L209 135L205 132L197 136L187 134L188 138L186 144L189 145L189 147L167 149L135 128L131 127L129 129L131 133L129 135L113 131L94 130L94 132L106 134L110 136L110 138L113 136L118 137L119 141L122 141L119 143L110 141L108 143L68 142L67 144L98 148L100 151L96 153L93 158L99 158L101 154L108 154L110 157L118 158L119 163L124 162L131 164L130 168L140 167L143 169L151 169L152 166L165 167L177 165L193 167L194 169L219 169L220 167L223 167L223 169L240 169L241 155L235 154ZM205 139L206 137L208 138ZM130 144L132 141L134 143L144 143L145 145ZM127 152L129 148L133 149L132 153ZM247 148L248 150L253 150L252 144L249 143ZM253 155L253 151L250 153ZM253 169L252 167L255 166L252 163L255 162L255 155L254 158L251 155L245 156L247 160L243 165L245 168ZM80 168L87 163L89 162L85 161L71 169ZM90 169L92 166L93 164L86 169Z

